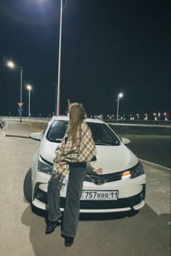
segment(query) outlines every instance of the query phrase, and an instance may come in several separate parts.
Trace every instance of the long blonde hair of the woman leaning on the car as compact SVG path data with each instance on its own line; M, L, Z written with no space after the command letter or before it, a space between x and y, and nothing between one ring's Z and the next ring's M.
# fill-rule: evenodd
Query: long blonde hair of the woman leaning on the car
M67 133L68 136L71 136L72 144L76 144L78 126L87 117L83 104L77 102L70 104L69 117Z

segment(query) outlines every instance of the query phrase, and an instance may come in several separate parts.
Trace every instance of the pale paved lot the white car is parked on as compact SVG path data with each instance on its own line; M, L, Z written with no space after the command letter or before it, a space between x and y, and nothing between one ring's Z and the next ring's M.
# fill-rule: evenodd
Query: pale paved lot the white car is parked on
M60 227L47 236L46 213L33 212L23 197L38 144L27 139L30 132L16 122L0 131L0 256L170 256L170 170L149 162L143 162L146 205L138 214L81 215L70 248L64 247Z

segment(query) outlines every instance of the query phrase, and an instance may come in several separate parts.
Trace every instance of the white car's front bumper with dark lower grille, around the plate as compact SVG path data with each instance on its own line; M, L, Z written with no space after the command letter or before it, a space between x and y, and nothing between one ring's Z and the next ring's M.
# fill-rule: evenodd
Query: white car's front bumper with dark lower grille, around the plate
M49 175L38 173L37 180L33 184L33 205L47 210L47 178ZM46 181L46 182L45 182ZM139 210L145 205L146 176L145 174L137 178L104 183L95 185L84 181L83 190L118 190L117 200L80 200L80 212L124 212L129 210ZM65 205L67 186L61 191L60 208L63 211Z

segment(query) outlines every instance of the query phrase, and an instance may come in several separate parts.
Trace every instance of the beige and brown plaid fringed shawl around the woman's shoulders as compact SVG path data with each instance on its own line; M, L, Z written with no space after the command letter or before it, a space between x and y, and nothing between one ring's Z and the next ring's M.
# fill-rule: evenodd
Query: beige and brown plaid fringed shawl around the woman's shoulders
M56 175L62 173L62 176L67 176L70 173L69 162L90 162L96 156L96 146L86 122L78 126L76 144L72 144L72 139L66 131L55 153L59 159L59 162L54 162L53 165L53 172Z

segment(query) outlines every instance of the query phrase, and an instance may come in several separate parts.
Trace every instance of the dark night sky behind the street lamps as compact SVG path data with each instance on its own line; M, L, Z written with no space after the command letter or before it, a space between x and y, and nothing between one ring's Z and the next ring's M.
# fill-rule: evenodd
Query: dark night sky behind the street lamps
M62 20L61 107L82 102L88 115L170 112L170 1L67 0ZM20 70L28 115L55 111L59 0L0 0L0 115L17 115Z

